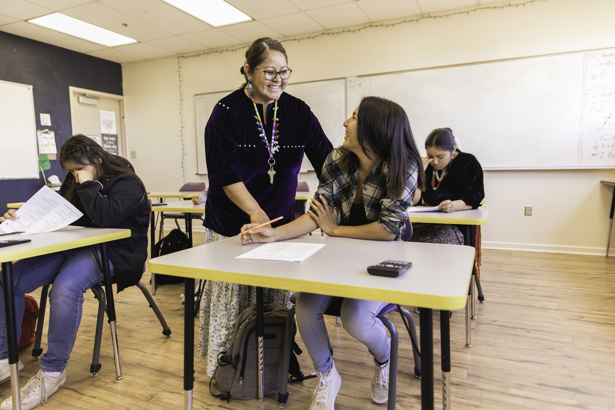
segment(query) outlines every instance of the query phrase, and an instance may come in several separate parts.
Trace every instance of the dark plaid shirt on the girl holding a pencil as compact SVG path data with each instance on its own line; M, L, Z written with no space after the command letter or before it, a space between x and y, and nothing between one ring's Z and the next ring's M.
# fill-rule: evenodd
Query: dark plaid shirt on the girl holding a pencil
M325 197L327 202L338 210L338 224L346 225L354 202L359 169L351 167L347 171L342 170L339 168L340 158L339 148L327 156L314 198L318 199L318 195ZM387 193L389 172L389 160L379 159L363 181L365 216L368 221L378 221L383 229L393 232L396 235L395 240L403 240L405 219L408 218L407 210L411 207L415 195L418 170L414 165L410 165L406 186L399 197Z

